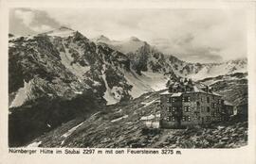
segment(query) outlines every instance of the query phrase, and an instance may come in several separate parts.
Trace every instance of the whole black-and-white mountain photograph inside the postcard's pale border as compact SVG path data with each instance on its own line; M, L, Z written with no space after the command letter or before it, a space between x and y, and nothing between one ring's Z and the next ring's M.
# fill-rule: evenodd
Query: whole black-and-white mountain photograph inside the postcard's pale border
M248 144L243 8L9 8L9 147Z

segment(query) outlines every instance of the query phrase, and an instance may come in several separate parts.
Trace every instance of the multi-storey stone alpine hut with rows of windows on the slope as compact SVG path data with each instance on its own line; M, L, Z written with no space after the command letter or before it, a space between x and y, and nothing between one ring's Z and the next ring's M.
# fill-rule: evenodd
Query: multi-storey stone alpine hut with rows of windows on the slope
M210 87L178 78L160 93L160 127L181 128L224 121L227 117L224 100Z

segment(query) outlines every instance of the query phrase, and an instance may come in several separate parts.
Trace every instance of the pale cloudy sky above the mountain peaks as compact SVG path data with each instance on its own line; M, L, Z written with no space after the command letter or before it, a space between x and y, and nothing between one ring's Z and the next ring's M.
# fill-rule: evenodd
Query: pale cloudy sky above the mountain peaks
M132 36L191 62L247 57L247 16L242 9L11 8L9 33L33 35L62 25L92 39Z

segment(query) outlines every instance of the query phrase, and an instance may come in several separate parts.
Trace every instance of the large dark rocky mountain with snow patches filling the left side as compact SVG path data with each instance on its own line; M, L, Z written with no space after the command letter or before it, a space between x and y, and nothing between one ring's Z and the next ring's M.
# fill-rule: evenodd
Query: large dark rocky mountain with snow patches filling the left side
M123 76L129 64L123 54L66 27L12 37L9 144L24 143L81 112L97 111L109 103L106 100L131 99L132 86Z

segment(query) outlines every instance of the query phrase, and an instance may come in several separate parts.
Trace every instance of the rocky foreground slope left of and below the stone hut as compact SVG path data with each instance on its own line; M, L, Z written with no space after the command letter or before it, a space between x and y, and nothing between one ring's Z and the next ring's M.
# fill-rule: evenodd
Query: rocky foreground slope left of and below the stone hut
M158 129L159 92L143 94L75 119L34 139L27 147L237 148L247 145L247 122L189 129Z

